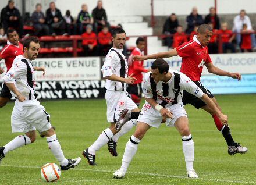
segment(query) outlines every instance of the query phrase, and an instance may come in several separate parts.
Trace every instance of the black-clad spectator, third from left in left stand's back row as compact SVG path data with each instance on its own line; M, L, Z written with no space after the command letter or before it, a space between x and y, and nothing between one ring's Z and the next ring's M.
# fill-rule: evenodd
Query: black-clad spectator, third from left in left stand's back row
M56 8L55 2L50 2L46 10L46 21L53 36L65 34L65 20L63 20L61 11Z

